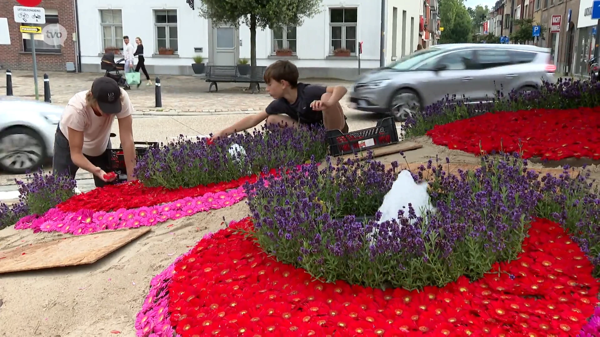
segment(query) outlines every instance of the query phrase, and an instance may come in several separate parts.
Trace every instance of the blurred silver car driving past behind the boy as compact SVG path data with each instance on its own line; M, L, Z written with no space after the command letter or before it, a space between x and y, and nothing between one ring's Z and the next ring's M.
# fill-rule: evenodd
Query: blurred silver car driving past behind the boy
M358 110L398 121L449 96L489 101L502 92L554 82L550 49L520 44L440 44L361 76L350 93Z

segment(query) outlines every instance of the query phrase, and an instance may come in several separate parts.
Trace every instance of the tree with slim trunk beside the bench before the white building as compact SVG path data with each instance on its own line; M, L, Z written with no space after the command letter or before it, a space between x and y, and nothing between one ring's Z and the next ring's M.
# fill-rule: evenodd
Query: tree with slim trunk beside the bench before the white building
M256 74L256 29L302 25L307 17L320 12L322 0L200 0L200 16L213 23L250 28L251 74ZM256 91L256 83L251 84Z

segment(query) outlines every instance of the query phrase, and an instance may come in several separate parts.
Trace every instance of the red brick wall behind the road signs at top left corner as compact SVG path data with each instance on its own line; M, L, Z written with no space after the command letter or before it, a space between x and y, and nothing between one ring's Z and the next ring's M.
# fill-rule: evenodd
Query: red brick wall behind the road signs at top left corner
M0 17L8 18L11 44L0 44L0 66L11 70L32 70L31 52L24 52L20 23L14 22L13 6L20 6L16 0L2 0ZM58 23L67 29L68 37L60 53L44 53L35 50L38 71L65 71L66 62L76 62L75 10L73 0L42 0L38 7L58 10ZM33 25L32 25L33 26Z

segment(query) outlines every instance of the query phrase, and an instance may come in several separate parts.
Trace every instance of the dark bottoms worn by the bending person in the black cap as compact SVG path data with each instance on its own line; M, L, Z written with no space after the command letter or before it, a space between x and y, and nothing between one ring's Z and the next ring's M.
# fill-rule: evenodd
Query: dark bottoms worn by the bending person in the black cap
M101 154L97 157L84 155L85 158L88 158L90 163L94 164L100 169L108 172L110 169L110 148L112 148L109 140L109 145L106 147L106 151L104 154ZM52 158L52 170L54 174L68 174L72 179L75 178L75 174L79 167L73 163L71 160L71 149L69 148L69 141L60 128L56 128L56 134L54 136L54 155ZM94 176L94 184L96 187L102 187L107 185L108 183L104 182L104 180L100 179L97 176Z

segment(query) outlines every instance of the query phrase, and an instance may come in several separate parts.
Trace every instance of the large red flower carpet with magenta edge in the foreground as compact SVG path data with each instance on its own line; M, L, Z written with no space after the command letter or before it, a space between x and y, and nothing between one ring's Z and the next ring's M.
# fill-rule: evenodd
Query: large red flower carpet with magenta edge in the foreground
M205 236L157 275L138 336L574 336L598 302L593 266L560 225L536 219L518 260L475 282L378 290L324 283L236 231Z

